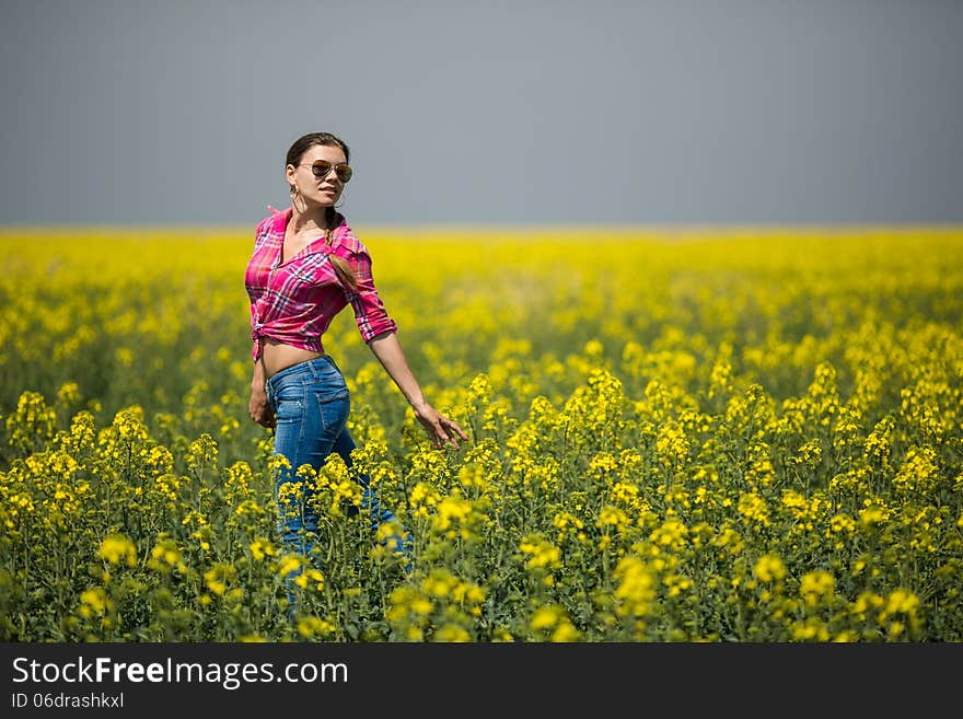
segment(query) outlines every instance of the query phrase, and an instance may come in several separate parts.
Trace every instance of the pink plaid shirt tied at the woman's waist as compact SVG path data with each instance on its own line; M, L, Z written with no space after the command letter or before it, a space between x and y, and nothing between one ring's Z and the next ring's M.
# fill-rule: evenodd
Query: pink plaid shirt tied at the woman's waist
M320 237L281 263L292 210L270 209L271 214L257 225L254 254L244 276L251 298L251 355L255 360L260 357L262 337L323 352L321 336L348 304L355 310L366 343L385 332L397 332L374 288L371 256L344 218L332 232L329 245ZM328 260L330 253L348 262L358 279L357 291L341 287Z

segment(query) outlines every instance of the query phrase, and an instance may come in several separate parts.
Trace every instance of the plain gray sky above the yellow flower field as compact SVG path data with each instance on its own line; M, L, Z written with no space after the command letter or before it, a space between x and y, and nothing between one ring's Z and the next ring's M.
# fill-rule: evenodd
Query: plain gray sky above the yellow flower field
M0 224L963 222L956 0L0 0Z

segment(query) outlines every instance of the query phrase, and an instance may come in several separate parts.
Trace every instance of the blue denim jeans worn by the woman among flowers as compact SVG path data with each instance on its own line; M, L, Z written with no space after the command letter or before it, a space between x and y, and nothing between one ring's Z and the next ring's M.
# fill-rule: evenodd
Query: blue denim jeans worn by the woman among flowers
M287 483L301 483L298 467L310 464L320 471L325 460L337 452L351 468L355 442L346 422L350 409L348 385L338 366L329 356L293 364L271 375L267 381L267 398L274 409L275 453L287 457L290 467L282 467L275 477L275 501L278 503L278 531L286 547L305 557L311 556L316 540L318 514L311 501L311 487L300 492L282 492ZM361 485L361 507L370 517L373 531L387 522L397 522L393 512L379 506L378 495L369 486L367 474L352 473ZM294 497L294 499L291 499ZM358 508L349 508L349 511ZM401 524L398 524L401 526ZM408 558L410 571L411 535L393 534L384 544ZM300 573L295 570L289 582Z

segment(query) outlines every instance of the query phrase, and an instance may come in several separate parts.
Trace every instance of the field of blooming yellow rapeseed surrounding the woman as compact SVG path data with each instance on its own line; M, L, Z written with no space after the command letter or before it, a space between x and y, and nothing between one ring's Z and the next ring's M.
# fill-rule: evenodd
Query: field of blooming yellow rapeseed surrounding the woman
M350 310L357 461L283 578L253 228L0 235L0 640L963 640L963 230L366 230L433 450Z

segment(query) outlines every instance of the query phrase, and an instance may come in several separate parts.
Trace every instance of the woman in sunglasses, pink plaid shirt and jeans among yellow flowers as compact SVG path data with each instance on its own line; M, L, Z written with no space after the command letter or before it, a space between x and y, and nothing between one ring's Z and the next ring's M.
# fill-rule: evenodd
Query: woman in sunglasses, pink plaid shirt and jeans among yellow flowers
M454 421L426 401L398 343L397 325L374 287L371 256L335 209L351 179L348 161L348 146L329 132L312 132L294 141L285 164L291 207L269 208L271 213L258 223L245 275L254 340L248 411L257 424L274 428L275 453L288 461L275 478L279 530L286 546L304 556L311 554L318 515L310 496L297 489L301 482L297 471L303 464L320 469L333 452L351 467L355 449L346 428L348 387L322 344L332 320L346 306L351 305L362 339L411 405L433 445L450 443L457 449L459 439L466 439ZM370 512L372 529L396 521L390 510L379 507L368 477L356 474L355 478L363 488L361 509ZM410 540L398 530L388 542L410 559Z

